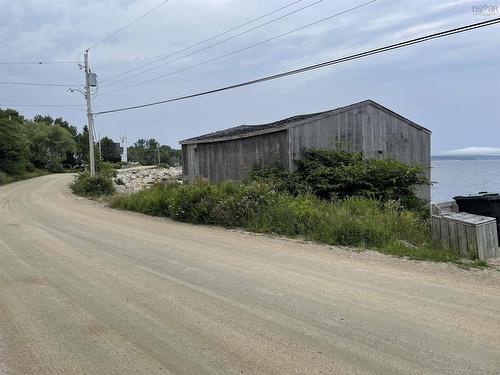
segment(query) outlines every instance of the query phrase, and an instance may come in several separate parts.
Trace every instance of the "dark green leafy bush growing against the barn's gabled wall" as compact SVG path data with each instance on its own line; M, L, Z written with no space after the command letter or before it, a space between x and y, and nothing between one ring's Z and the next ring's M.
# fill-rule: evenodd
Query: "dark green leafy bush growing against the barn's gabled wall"
M281 167L256 168L249 181L272 184L291 195L312 193L319 198L363 197L381 202L398 201L404 207L419 209L424 202L415 191L428 184L422 166L408 166L391 159L364 159L360 153L310 149L289 172ZM428 210L426 210L428 211Z

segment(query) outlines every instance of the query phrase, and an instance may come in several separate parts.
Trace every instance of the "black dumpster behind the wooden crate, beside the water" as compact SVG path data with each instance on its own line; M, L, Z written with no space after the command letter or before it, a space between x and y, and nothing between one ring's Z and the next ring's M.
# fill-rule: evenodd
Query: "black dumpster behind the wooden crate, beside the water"
M498 193L480 192L477 195L457 196L453 199L457 202L459 211L497 219L497 233L500 242L500 195Z

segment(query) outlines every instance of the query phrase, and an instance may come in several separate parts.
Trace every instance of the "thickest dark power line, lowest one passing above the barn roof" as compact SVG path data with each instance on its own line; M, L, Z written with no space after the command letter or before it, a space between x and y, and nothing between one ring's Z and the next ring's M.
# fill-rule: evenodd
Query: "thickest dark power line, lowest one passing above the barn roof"
M478 22L478 23L474 23L474 24L469 24L469 25L466 25L466 26L457 27L457 28L454 28L454 29L440 31L440 32L437 32L437 33L434 33L434 34L429 34L429 35L425 35L425 36L422 36L422 37L418 37L418 38L406 40L406 41L403 41L403 42L399 42L399 43L395 43L395 44L390 44L390 45L387 45L387 46L384 46L384 47L374 48L374 49L371 49L371 50L368 50L368 51L359 52L359 53L356 53L356 54L344 56L344 57L337 58L337 59L334 59L334 60L324 61L324 62L321 62L321 63L318 63L318 64L314 64L314 65L307 65L307 66L304 66L302 68L298 68L298 69L294 69L294 70L289 70L289 71L278 73L278 74L274 74L274 75L271 75L271 76L266 76L266 77L254 79L254 80L251 80L251 81L237 83L237 84L231 85L231 86L224 86L224 87L220 87L220 88L213 89L213 90L202 91L202 92L198 92L198 93L194 93L194 94L190 94L190 95L179 96L179 97L176 97L176 98L161 100L161 101L147 103L147 104L140 104L140 105L135 105L135 106L130 106L130 107L123 107L123 108L110 109L110 110L106 110L106 111L100 111L100 112L94 113L94 115L101 115L101 114L106 114L106 113L114 113L114 112L128 111L128 110L132 110L132 109L139 109L139 108L151 107L151 106L156 106L156 105L160 105L160 104L175 102L175 101L179 101L179 100L185 100L185 99L195 98L195 97L198 97L198 96L204 96L204 95L214 94L214 93L221 92L221 91L232 90L232 89L239 88L239 87L244 87L244 86L249 86L249 85L255 85L257 83L262 83L262 82L271 81L271 80L278 79L278 78L283 78L283 77L287 77L287 76L291 76L291 75L295 75L295 74L299 74L299 73L304 73L304 72L308 72L308 71L311 71L311 70L324 68L324 67L327 67L327 66L330 66L330 65L336 65L336 64L340 64L340 63L343 63L343 62L346 62L346 61L356 60L356 59L360 59L360 58L363 58L363 57L367 57L367 56L371 56L371 55L375 55L375 54L379 54L379 53L391 51L391 50L394 50L394 49L398 49L398 48L402 48L402 47L407 47L407 46L410 46L410 45L413 45L413 44L427 42L427 41L433 40L433 39L443 38L443 37L447 37L447 36L450 36L450 35L459 34L459 33L471 31L471 30L474 30L474 29L479 29L479 28L482 28L482 27L486 27L486 26L492 26L492 25L497 24L497 23L500 23L500 17L499 18L494 18L494 19L491 19L491 20L488 20L488 21L483 21L483 22Z

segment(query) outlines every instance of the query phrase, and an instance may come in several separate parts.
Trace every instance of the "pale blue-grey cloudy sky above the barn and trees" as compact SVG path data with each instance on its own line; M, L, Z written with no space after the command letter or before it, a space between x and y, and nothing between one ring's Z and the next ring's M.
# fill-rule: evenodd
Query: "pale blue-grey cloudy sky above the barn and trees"
M0 64L0 81L81 88L84 74L76 61L82 61L83 51L162 1L0 0L0 62L75 61ZM495 1L486 3L492 9L490 13L478 13L473 7L485 3L376 0L216 59L366 2L169 0L90 48L90 66L99 81L93 111L210 90L500 17L500 2ZM186 49L281 7L286 8ZM263 26L257 27L260 25ZM237 36L254 27L257 28ZM232 36L235 37L224 41ZM372 99L430 129L433 154L456 154L457 150L499 154L499 45L500 24L496 24L255 86L98 115L96 132L115 140L126 135L129 145L138 138L156 138L177 148L179 140L200 134ZM172 56L165 58L169 55ZM151 63L160 58L163 59ZM185 70L211 59L216 60ZM144 64L149 65L137 68ZM142 73L148 68L154 69ZM161 76L165 77L154 79ZM113 83L122 78L127 79ZM151 79L154 80L141 84ZM87 121L84 98L67 90L68 87L0 84L0 107L15 108L27 118L36 114L63 117L81 129Z

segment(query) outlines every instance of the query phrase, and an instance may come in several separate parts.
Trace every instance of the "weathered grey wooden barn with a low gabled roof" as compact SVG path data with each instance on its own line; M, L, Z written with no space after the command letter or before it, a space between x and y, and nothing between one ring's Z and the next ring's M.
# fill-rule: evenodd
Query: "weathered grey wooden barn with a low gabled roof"
M293 169L308 148L342 147L369 158L392 158L422 164L430 178L431 132L372 101L330 111L293 116L263 125L241 125L199 137L182 145L186 181L241 180L256 165L279 163ZM430 201L430 187L419 195Z

